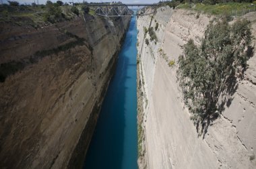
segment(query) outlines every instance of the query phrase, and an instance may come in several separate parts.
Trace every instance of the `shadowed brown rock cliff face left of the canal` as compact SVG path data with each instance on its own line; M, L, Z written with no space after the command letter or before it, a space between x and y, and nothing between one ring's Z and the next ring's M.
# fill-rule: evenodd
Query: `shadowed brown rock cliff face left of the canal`
M129 20L0 26L0 168L82 166Z

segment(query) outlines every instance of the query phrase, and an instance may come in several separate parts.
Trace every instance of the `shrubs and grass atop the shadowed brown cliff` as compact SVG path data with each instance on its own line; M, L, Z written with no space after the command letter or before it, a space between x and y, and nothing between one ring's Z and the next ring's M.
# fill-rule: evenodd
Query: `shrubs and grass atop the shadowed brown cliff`
M9 1L9 5L0 5L0 23L15 23L17 25L32 25L42 27L47 23L67 21L79 13L94 13L86 3L74 3L73 6L57 1L46 1L45 5L20 5L17 1Z

